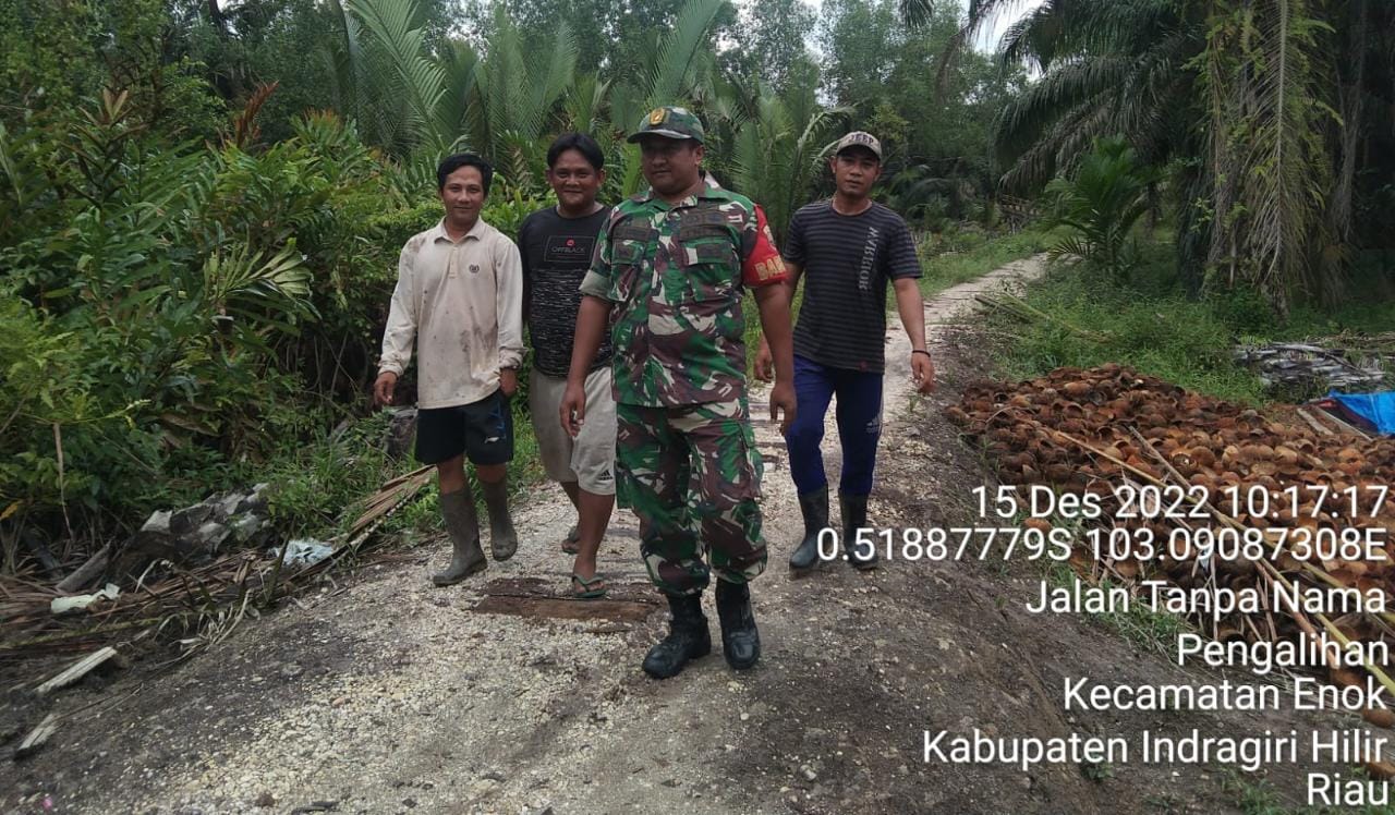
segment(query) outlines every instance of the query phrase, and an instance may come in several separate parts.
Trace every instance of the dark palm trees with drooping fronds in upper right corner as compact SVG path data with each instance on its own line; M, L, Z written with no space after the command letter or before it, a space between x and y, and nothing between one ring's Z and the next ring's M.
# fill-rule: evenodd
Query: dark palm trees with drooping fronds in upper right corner
M972 0L975 31L1006 0ZM1122 134L1170 173L1190 289L1251 289L1283 317L1335 304L1395 248L1395 6L1373 0L1046 0L1003 56L1042 71L995 130L1004 184L1070 174ZM963 42L963 38L961 38Z

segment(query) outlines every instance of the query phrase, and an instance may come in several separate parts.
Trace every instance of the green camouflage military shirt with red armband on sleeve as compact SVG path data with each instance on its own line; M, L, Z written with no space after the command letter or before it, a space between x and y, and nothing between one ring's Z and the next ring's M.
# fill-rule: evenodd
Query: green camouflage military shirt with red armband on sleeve
M615 401L667 408L741 398L742 285L787 278L764 212L707 184L670 205L624 201L601 229L582 293L611 301Z

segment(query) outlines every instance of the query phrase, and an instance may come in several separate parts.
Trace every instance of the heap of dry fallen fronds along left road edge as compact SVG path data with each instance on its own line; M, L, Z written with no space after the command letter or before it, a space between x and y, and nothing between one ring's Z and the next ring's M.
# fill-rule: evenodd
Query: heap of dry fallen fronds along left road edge
M343 558L357 555L371 534L430 481L431 468L421 468L385 483L363 502L350 528L333 541L333 554L290 569L282 555L237 551L206 565L169 567L165 576L123 590L114 600L93 603L85 611L54 615L50 604L60 592L21 578L0 582L0 621L8 634L0 641L0 667L38 655L86 650L113 635L146 636L151 632L188 635L187 646L218 642L248 614L258 614ZM282 551L285 551L283 547Z

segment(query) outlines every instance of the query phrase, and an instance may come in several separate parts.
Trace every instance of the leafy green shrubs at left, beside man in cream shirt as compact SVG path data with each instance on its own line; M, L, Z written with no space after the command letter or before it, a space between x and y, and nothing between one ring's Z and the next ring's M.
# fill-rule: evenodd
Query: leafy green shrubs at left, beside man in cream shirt
M124 94L0 130L0 512L130 525L287 455L338 461L324 434L364 405L432 187L402 205L331 114L261 151L181 145ZM512 234L540 205L501 186L484 216Z

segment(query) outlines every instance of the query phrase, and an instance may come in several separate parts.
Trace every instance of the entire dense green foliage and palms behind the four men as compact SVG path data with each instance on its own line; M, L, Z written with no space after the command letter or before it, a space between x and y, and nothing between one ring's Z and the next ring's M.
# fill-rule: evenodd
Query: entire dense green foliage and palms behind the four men
M1165 373L1267 331L1257 303L1313 327L1295 301L1388 296L1388 4L1048 0L995 61L967 43L1002 4L0 0L0 543L128 529L258 473L286 481L287 528L336 515L399 466L335 428L368 413L438 159L490 158L485 218L512 233L564 130L603 145L604 200L636 191L625 135L657 105L702 116L706 166L777 236L830 193L830 142L877 134L926 290L1042 248L989 232L1050 186L1050 240L1094 282L1041 296L1119 345L1032 335L1024 366ZM1131 248L1155 216L1176 262Z

